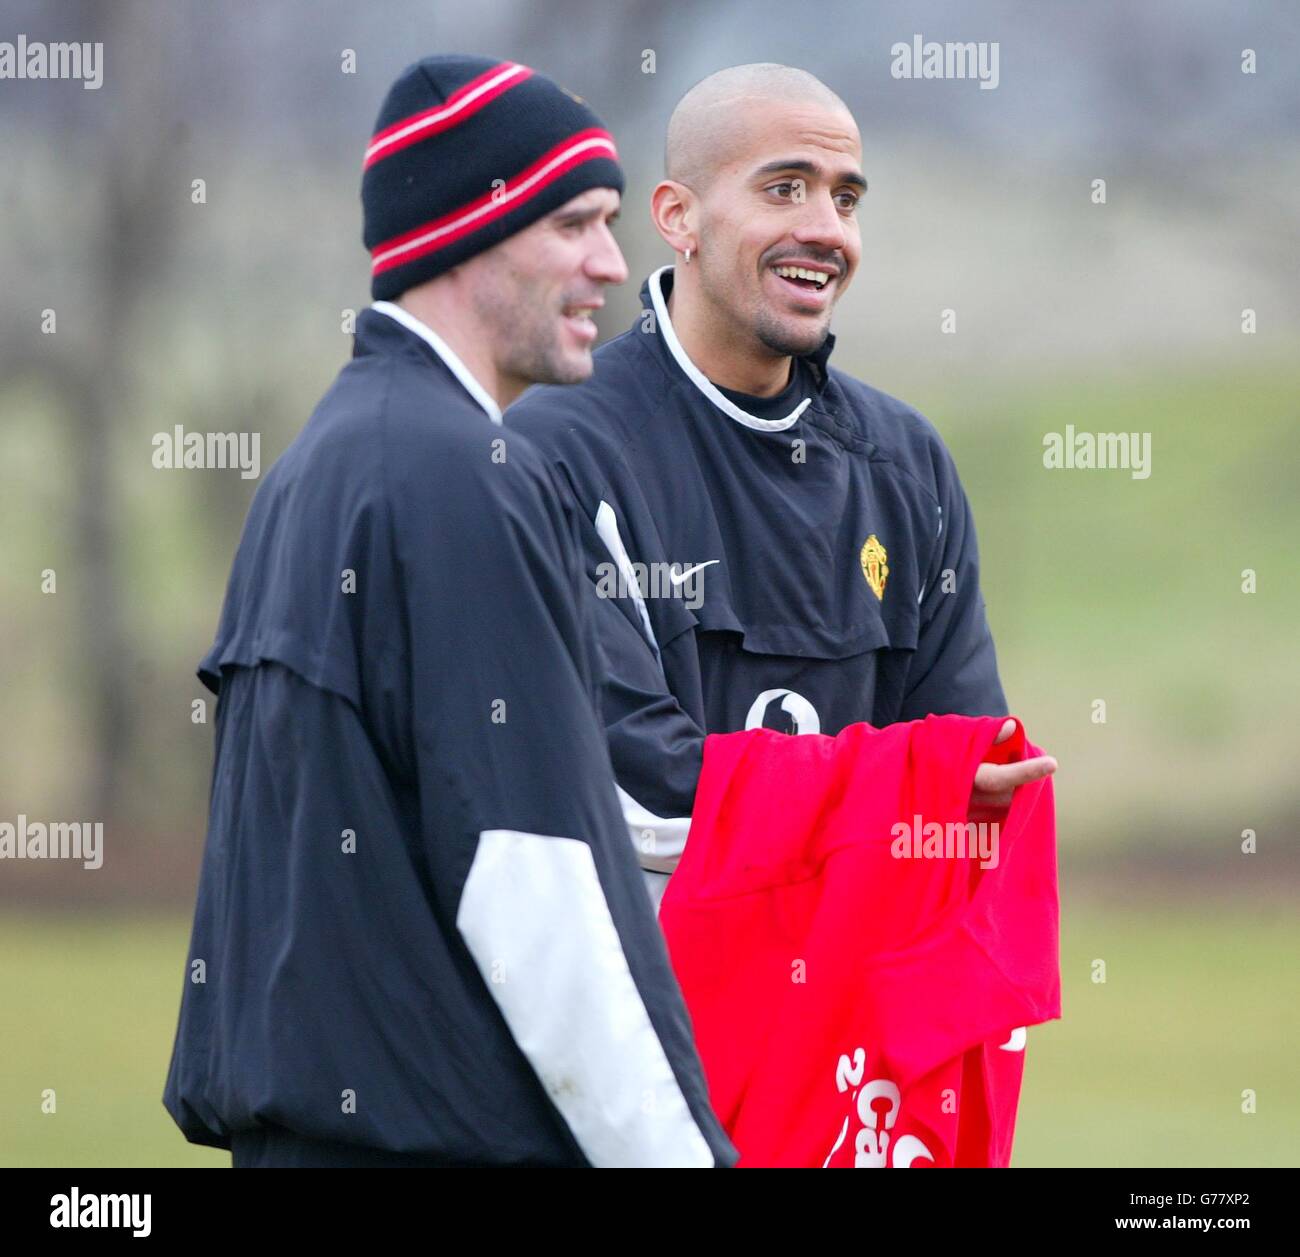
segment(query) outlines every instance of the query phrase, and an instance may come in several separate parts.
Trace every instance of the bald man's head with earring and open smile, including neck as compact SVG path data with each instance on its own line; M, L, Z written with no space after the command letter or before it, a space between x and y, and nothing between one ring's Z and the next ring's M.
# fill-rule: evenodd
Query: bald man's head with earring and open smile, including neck
M664 156L650 213L681 259L673 328L715 383L770 396L826 341L862 256L858 125L807 70L734 65L681 97Z

